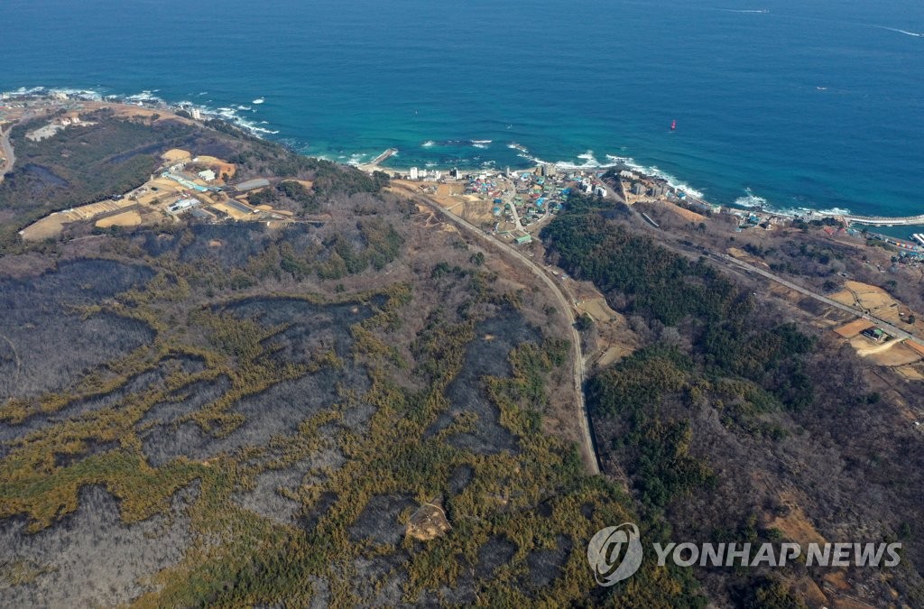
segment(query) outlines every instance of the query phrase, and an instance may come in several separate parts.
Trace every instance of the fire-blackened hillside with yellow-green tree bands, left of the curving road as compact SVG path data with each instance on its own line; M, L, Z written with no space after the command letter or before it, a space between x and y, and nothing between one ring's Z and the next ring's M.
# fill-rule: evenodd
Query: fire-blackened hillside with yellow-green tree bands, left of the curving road
M18 163L33 168L0 189L8 603L612 593L586 543L635 508L584 473L562 414L570 329L535 278L355 170L224 124L96 118L108 126L25 146ZM86 156L63 156L76 141ZM178 146L237 164L236 179L269 177L263 196L294 221L75 222L56 240L15 239L41 213L136 188ZM109 182L106 162L132 164ZM697 589L646 565L619 594L697 604Z

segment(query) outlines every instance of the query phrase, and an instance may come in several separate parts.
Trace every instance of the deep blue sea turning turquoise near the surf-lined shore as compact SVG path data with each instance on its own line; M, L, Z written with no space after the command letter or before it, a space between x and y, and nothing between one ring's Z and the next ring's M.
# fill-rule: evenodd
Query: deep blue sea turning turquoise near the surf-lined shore
M924 213L921 0L3 0L0 32L0 91L153 91L342 161L630 157L720 203Z

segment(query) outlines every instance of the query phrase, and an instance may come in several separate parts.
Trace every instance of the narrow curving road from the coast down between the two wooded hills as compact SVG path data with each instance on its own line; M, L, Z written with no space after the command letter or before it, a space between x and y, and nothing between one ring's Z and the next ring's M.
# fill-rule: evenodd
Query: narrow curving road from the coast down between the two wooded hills
M436 213L444 216L444 218L453 224L464 228L466 231L468 231L468 233L471 233L473 237L478 238L489 248L502 250L506 254L509 254L510 257L517 259L519 262L522 262L523 265L529 269L530 273L536 275L546 286L549 287L549 290L561 305L562 310L565 311L565 316L567 316L568 320L568 326L571 330L571 344L574 345L575 348L573 382L575 395L577 396L577 418L580 423L581 435L584 439L584 450L582 451L584 453L584 462L590 474L600 474L600 461L597 458L597 451L594 449L593 436L590 433L590 416L588 415L587 411L587 403L584 400L584 351L581 348L580 336L577 334L577 328L575 327L575 315L574 311L572 310L572 303L568 301L567 298L565 298L565 294L563 294L559 286L555 284L553 278L546 274L540 265L532 262L529 257L524 256L522 253L510 245L507 245L503 241L492 238L490 235L485 234L485 232L478 226L469 223L467 220L463 220L453 213L447 212L443 207L439 205L439 203L433 201L423 193L419 192L417 189L401 184L395 184L395 182L392 182L392 188L410 195L411 198L417 201L424 202Z

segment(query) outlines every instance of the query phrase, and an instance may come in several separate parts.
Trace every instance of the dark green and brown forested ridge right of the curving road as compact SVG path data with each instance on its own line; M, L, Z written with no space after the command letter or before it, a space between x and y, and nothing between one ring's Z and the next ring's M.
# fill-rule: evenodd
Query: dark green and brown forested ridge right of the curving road
M921 548L909 529L920 505L905 484L919 478L910 465L921 463L919 440L908 438L910 452L887 448L901 423L865 387L859 362L704 259L604 219L610 211L600 199L572 196L542 238L552 262L592 281L643 338L587 384L604 469L626 476L643 518L701 542L793 540L790 523L807 517L827 539L904 533L897 574L849 577L870 600L924 600ZM876 420L862 440L849 432L859 420ZM887 470L881 454L864 461L883 449L898 457ZM847 465L833 469L832 458ZM849 502L852 516L831 505L834 497ZM734 604L801 606L807 585L825 585L804 567L697 571L712 598Z

